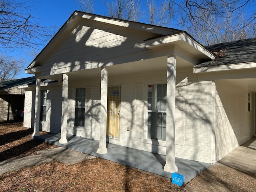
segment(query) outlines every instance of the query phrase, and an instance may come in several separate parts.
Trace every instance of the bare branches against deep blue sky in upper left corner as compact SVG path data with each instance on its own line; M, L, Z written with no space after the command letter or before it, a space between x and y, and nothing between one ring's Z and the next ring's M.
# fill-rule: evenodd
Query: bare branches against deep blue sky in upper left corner
M52 28L44 28L33 17L28 0L0 0L0 49L36 48L49 39ZM40 36L40 39L38 39Z

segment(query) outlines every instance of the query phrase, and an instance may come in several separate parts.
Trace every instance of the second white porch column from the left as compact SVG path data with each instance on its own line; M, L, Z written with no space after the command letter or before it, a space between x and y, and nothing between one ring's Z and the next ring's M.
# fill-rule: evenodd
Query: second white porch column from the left
M61 130L60 130L59 143L68 143L67 113L68 113L68 74L62 74L62 109L61 109Z

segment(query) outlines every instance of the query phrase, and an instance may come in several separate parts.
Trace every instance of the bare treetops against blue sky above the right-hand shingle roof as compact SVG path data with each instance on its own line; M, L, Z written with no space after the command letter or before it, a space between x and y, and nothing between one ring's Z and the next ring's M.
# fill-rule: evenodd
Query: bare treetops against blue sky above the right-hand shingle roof
M256 11L245 12L250 5L253 0L183 0L173 11L184 30L210 45L255 37Z

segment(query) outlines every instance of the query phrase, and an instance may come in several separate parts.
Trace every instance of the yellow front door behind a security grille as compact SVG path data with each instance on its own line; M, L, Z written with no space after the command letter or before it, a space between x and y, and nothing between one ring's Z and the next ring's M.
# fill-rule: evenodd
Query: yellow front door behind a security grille
M108 87L107 137L119 139L120 136L121 86Z

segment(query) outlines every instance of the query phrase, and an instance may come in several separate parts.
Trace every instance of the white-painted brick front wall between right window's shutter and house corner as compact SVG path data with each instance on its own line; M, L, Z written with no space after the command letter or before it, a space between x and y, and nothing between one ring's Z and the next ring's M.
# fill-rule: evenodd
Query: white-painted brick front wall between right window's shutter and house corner
M175 145L176 157L211 163L212 82L188 82L184 92L185 142Z

